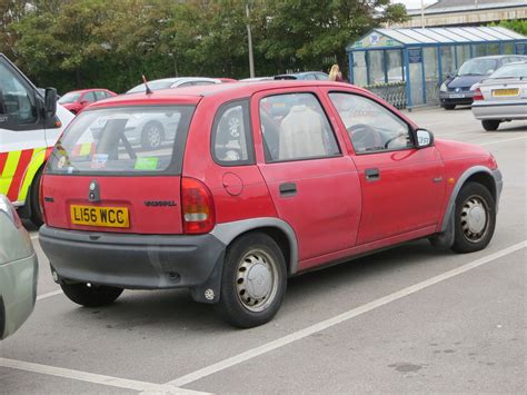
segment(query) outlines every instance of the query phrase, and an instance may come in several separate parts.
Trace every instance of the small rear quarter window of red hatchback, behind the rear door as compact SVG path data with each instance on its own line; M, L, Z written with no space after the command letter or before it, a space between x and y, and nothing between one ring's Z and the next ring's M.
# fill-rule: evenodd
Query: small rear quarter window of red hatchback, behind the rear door
M249 102L233 101L220 107L212 126L212 157L221 166L255 162Z

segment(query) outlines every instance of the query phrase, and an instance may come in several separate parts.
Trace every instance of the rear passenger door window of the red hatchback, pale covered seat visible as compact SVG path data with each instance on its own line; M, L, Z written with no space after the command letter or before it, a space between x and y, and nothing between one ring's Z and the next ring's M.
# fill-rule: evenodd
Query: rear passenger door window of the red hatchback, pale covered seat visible
M260 121L267 162L340 155L328 118L312 93L264 98Z

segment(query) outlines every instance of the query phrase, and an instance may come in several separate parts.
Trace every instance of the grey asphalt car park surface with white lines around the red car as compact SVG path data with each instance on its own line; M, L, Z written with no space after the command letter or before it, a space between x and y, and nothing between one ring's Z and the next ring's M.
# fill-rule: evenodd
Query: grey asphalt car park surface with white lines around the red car
M0 343L0 393L525 393L527 122L488 132L467 108L408 116L497 158L505 186L485 250L418 240L302 275L271 323L239 330L186 290L79 307L30 228L39 296Z

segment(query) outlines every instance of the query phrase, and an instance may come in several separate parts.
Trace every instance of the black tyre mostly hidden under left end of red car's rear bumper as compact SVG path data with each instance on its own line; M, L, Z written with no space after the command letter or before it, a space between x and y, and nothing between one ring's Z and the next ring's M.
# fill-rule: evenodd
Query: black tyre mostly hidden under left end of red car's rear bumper
M70 300L86 307L109 305L116 300L123 290L122 288L106 285L88 286L86 283L61 284L60 287Z

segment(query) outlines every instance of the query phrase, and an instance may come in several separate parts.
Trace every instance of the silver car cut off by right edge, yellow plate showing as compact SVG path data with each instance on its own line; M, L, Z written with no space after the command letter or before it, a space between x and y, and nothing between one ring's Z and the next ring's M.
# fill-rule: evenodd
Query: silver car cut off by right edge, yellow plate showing
M473 113L485 130L499 124L527 119L527 61L508 63L471 88Z

